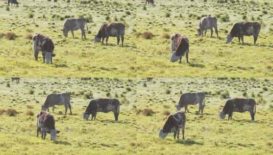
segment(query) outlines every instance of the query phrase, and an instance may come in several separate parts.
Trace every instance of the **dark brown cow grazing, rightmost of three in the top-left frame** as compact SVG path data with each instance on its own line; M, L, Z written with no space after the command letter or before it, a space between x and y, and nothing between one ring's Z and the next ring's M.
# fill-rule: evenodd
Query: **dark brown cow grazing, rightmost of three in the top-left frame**
M108 43L109 36L117 38L117 44L119 44L119 36L121 36L121 46L123 46L123 40L125 35L125 25L121 22L104 23L101 29L98 31L94 38L94 42L100 42L101 38L106 38L106 44Z

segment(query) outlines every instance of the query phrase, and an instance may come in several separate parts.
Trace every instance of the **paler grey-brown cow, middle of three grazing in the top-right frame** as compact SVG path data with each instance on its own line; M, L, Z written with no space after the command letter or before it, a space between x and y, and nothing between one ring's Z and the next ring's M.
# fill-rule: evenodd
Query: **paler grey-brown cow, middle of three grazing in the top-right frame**
M207 30L210 30L210 37L212 37L213 34L213 28L215 29L215 33L218 37L218 29L217 29L217 18L216 17L202 17L199 23L199 29L197 29L198 35L199 36L204 36L204 31L205 31L205 36L207 34Z

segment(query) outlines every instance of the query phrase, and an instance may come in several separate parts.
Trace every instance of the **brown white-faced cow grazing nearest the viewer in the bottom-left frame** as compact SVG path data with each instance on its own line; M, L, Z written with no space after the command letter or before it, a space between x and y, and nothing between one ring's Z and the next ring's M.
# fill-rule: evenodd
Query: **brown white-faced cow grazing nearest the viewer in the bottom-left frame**
M46 133L51 134L51 140L55 140L56 135L60 133L55 128L55 120L51 113L41 111L37 115L37 137L39 133L41 133L42 139L45 139Z

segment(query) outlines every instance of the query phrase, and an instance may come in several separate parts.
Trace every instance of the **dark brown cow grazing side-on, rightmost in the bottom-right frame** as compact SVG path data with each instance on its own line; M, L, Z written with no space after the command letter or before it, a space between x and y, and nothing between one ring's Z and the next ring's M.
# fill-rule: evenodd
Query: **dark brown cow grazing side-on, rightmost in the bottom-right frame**
M229 114L228 120L232 120L233 112L243 113L249 111L251 119L255 120L256 101L252 98L233 98L227 100L224 108L220 112L220 119L225 119L226 114Z

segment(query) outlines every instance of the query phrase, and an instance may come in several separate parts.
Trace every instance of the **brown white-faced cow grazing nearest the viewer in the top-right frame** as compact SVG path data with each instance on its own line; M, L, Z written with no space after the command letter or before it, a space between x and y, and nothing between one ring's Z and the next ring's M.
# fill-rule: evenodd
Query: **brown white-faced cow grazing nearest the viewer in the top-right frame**
M188 61L188 55L189 55L189 40L187 37L182 36L178 33L175 33L171 37L171 62L176 62L178 59L180 59L180 63L182 60L182 57L186 55L187 63Z

